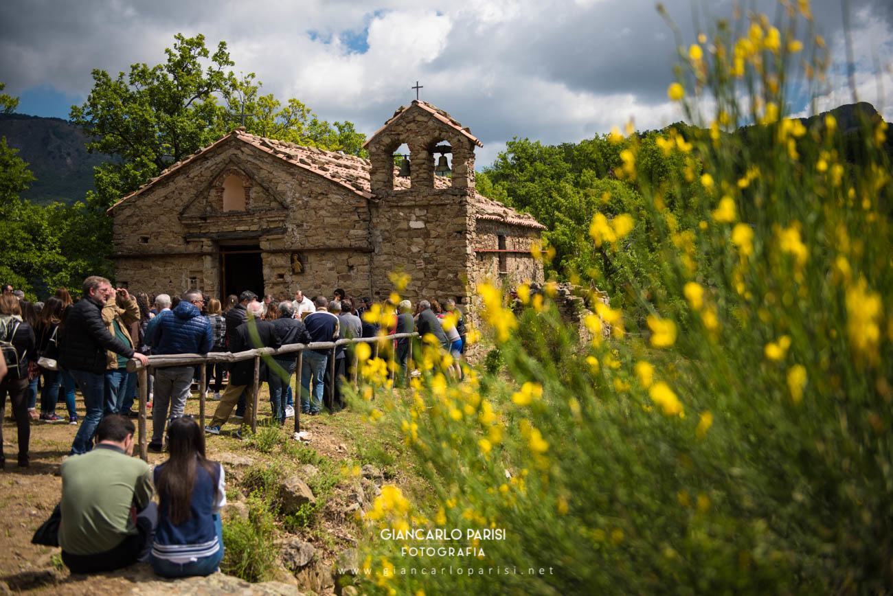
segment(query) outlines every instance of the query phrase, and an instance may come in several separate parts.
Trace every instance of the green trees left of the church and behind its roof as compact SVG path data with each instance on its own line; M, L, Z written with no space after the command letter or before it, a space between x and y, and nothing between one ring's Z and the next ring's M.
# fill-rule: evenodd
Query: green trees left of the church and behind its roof
M113 77L93 70L87 101L71 120L90 137L88 150L111 155L94 171L95 191L66 207L21 200L34 180L18 151L0 139L0 279L29 295L79 286L88 275L113 277L112 220L106 210L172 161L182 160L238 126L248 132L331 151L360 153L365 138L348 121L321 120L304 103L260 95L255 74L237 77L225 42L177 35L163 63L135 63ZM4 86L0 83L0 92ZM18 100L0 93L0 112ZM243 116L243 114L245 114Z

